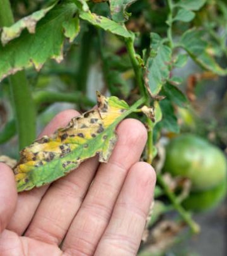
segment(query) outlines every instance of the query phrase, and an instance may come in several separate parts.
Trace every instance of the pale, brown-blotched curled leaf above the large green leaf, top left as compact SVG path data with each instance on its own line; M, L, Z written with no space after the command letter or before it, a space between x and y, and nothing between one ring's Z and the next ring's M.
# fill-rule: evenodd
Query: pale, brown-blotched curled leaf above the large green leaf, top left
M17 21L11 27L3 27L3 32L1 34L1 42L3 43L3 46L5 46L9 41L20 37L22 30L25 28L27 28L31 34L34 34L37 22L44 18L46 13L48 13L54 5L55 4L46 9L41 9L40 11L35 11L32 15L26 16L25 18Z

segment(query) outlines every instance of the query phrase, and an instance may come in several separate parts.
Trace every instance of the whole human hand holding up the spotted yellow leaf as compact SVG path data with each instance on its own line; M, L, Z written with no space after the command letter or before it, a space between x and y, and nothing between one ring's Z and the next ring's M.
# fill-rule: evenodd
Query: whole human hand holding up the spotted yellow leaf
M63 111L42 135L76 115ZM107 164L93 157L52 185L18 195L13 172L0 164L1 256L136 255L156 178L149 164L138 162L144 126L125 119L117 134Z

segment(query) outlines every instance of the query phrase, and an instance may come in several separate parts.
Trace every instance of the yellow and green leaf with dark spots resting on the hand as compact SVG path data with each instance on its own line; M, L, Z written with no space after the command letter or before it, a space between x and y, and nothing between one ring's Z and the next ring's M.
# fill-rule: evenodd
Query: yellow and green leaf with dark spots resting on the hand
M18 192L57 180L96 154L100 162L108 161L117 141L115 127L143 101L129 107L113 96L97 94L97 99L98 109L71 119L66 127L21 151L14 169Z

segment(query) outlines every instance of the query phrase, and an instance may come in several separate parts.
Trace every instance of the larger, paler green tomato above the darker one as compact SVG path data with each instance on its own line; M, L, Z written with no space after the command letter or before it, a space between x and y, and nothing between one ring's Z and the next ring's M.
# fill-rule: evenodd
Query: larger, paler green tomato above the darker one
M226 158L217 147L191 134L173 138L166 147L164 170L192 181L192 190L214 188L226 180Z

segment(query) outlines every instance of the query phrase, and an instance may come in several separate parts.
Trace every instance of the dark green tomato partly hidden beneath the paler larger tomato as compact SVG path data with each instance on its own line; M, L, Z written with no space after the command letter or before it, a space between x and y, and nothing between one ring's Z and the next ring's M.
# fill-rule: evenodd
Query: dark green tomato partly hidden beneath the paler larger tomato
M225 197L227 182L224 181L211 190L192 192L182 205L187 210L201 212L216 207Z

